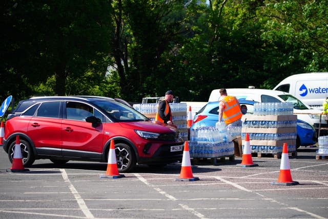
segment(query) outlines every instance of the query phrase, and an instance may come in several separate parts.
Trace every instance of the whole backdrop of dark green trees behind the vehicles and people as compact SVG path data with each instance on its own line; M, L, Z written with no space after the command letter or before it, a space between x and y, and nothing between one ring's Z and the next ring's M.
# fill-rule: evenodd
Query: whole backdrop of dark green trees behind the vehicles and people
M172 89L272 89L327 71L328 1L92 0L2 4L1 99L103 95L138 102Z

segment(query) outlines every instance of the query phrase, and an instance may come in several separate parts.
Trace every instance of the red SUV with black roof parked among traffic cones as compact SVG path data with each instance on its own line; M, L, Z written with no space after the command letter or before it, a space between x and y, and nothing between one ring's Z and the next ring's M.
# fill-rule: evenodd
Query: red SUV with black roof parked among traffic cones
M12 162L15 137L25 166L36 159L55 164L70 160L108 162L114 140L120 172L136 164L163 166L181 161L183 140L167 125L149 118L122 101L99 96L33 97L20 101L8 115L3 147Z

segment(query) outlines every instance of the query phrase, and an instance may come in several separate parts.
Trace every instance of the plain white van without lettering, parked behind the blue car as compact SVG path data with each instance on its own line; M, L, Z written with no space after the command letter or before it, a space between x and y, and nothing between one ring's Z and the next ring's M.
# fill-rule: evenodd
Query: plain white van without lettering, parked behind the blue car
M300 99L296 98L290 93L277 91L277 90L265 90L265 89L252 89L252 88L229 88L227 89L228 95L236 96L237 99L245 99L249 101L256 101L260 103L270 102L286 102L293 103L294 114L297 114L297 118L306 123L313 125L316 129L320 123L320 110L311 109L309 105L304 104ZM220 97L219 89L213 90L210 94L209 102L218 101ZM321 127L326 124L326 120L321 120Z

